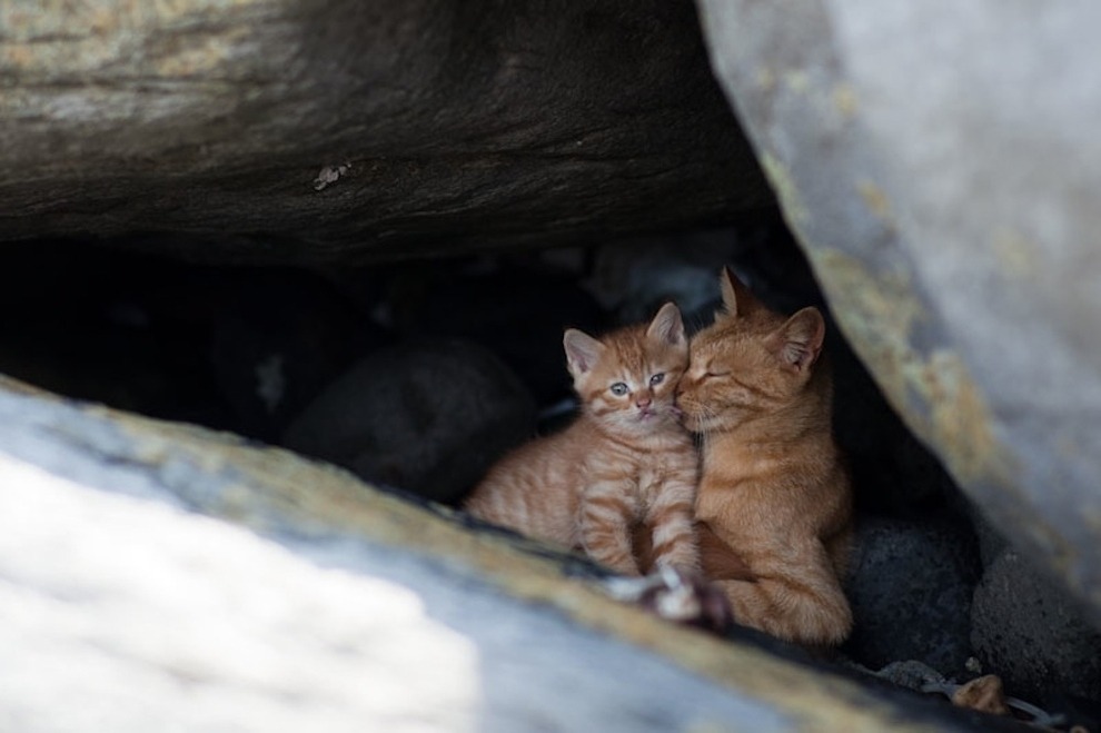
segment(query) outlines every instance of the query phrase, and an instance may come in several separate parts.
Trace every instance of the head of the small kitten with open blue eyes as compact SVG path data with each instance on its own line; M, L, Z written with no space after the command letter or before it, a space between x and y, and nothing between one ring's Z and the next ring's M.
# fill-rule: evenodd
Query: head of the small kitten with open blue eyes
M574 389L593 419L623 435L646 435L678 423L674 397L688 366L688 341L672 303L649 324L599 339L571 328L563 346Z

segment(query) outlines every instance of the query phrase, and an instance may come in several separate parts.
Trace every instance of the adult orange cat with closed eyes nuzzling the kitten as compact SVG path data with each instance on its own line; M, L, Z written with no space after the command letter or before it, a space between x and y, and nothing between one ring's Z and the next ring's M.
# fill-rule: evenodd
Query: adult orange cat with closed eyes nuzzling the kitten
M703 435L696 495L703 572L735 621L809 645L852 627L841 590L852 488L831 432L833 385L815 308L766 309L731 273L725 310L692 339L677 387L684 424Z

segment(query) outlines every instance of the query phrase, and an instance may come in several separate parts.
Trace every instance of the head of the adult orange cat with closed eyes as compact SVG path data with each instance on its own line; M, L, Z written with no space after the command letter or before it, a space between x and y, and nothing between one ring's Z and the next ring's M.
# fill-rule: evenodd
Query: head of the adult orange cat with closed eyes
M732 429L797 404L825 337L816 308L785 318L728 269L720 279L723 309L693 337L688 370L677 388L684 424L696 433Z

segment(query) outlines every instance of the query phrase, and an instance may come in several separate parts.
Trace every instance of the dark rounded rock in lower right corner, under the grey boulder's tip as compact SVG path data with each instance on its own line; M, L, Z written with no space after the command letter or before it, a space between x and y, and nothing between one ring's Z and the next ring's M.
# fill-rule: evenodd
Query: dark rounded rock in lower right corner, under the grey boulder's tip
M971 610L983 670L1019 697L1101 701L1101 631L1011 546L986 568Z

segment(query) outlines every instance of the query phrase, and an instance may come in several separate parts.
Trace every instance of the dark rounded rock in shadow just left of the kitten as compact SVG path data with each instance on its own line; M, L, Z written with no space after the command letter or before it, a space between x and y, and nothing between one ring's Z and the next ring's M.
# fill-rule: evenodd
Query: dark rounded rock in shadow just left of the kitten
M282 444L364 479L455 502L535 434L535 404L496 357L463 341L386 347L330 384Z

